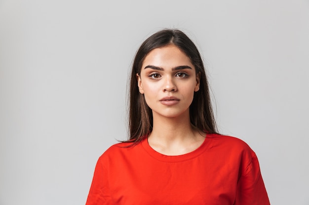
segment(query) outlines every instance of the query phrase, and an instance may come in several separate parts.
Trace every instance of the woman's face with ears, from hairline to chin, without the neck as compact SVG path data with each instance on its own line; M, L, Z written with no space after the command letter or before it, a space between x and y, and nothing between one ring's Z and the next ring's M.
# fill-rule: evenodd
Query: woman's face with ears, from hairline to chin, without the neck
M138 87L153 116L189 117L200 74L186 54L175 45L152 50L144 59Z

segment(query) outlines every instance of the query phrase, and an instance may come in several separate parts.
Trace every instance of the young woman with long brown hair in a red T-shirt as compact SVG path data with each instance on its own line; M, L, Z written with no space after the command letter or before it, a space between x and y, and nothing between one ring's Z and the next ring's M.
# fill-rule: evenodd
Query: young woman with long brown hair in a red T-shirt
M86 205L269 205L259 162L218 134L203 62L180 30L136 53L129 141L99 158Z

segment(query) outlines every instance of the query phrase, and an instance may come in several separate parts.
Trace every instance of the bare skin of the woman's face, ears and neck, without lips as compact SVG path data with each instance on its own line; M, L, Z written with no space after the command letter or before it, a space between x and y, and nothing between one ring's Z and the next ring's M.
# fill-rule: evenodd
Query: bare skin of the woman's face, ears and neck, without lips
M146 56L137 80L153 111L149 145L171 156L197 149L206 134L190 122L189 106L199 89L199 74L196 75L191 59L174 45L154 49ZM173 99L162 101L164 97Z

